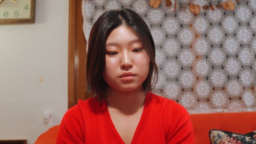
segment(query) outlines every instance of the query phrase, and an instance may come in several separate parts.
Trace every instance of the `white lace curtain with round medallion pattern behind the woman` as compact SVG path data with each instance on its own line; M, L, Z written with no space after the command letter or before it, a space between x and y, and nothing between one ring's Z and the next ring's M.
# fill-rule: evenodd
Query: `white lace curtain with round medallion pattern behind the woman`
M203 10L225 0L83 0L86 40L105 11L130 8L148 24L156 44L158 83L152 92L173 99L189 113L256 111L256 0L235 2L234 10ZM186 6L184 8L183 6Z

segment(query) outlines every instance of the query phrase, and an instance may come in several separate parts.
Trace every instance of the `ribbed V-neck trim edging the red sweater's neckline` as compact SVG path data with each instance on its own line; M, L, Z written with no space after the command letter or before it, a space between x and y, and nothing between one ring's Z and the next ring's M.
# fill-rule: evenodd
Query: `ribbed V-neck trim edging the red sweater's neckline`
M132 136L132 141L131 141L131 144L135 144L136 143L136 139L137 137L139 136L140 134L140 131L142 130L144 124L145 124L145 120L146 120L146 116L147 116L147 112L149 110L149 99L150 99L150 92L148 92L145 96L145 102L144 102L144 107L143 107L143 111L142 111L142 114L140 116L140 120L138 122L138 125L136 127L136 130ZM104 105L105 105L105 108L106 108L106 118L108 119L108 123L111 127L111 133L114 134L116 136L116 138L118 139L118 141L120 142L120 144L125 144L124 140L121 138L120 134L118 133L118 131L116 130L116 127L114 125L114 122L112 121L111 117L110 117L110 113L108 111L108 106L107 106L107 103L106 103L106 99L104 99Z

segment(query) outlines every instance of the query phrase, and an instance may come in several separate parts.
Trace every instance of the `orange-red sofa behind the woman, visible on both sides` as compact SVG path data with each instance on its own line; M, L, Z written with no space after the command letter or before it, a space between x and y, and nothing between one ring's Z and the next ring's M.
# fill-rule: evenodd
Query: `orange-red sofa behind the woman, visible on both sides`
M190 114L196 144L210 144L210 129L245 134L256 130L256 112ZM55 144L59 125L53 126L36 140L35 144Z

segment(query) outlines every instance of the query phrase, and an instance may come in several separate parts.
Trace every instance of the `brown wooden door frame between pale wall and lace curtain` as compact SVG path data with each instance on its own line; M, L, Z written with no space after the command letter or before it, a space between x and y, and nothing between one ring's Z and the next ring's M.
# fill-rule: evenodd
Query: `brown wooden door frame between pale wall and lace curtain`
M82 0L69 0L68 23L68 108L91 96L86 80L86 39L83 31Z

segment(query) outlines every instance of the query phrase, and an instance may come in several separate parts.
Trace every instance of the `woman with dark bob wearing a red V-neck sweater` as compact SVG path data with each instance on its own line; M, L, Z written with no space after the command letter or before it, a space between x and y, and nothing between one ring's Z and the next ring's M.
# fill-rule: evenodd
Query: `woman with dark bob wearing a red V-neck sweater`
M86 74L94 98L64 115L57 144L194 144L188 112L150 93L157 79L155 46L132 10L110 10L95 22Z

